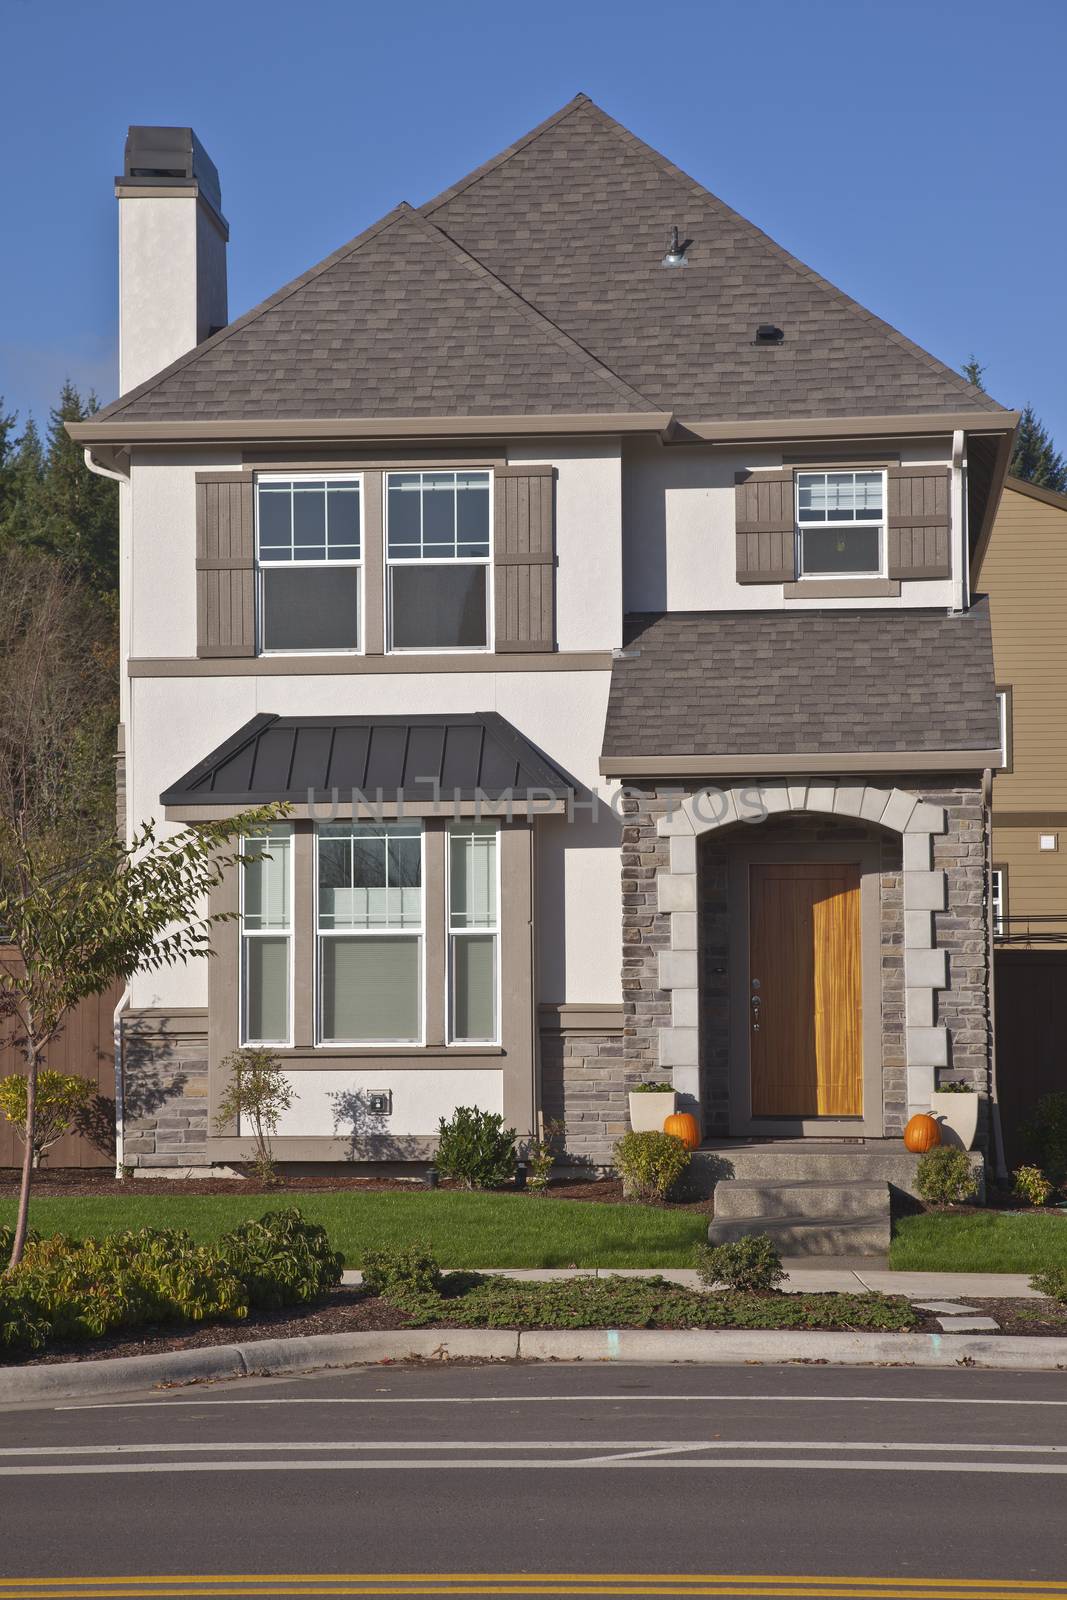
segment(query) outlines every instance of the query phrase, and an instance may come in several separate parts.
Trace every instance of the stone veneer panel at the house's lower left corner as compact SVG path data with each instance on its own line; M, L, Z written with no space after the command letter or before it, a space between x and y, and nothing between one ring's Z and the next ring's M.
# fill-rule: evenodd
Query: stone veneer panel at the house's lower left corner
M123 1160L208 1165L208 1013L123 1013Z

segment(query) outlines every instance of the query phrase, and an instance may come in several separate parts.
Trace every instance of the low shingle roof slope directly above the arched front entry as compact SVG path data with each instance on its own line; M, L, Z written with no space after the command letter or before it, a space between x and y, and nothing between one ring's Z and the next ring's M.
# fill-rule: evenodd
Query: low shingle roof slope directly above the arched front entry
M989 602L969 611L669 611L627 618L603 755L989 750Z

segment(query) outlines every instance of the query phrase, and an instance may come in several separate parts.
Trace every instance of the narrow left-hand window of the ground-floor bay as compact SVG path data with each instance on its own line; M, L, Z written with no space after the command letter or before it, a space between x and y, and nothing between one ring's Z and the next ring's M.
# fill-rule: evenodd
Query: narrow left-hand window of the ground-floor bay
M242 842L242 1043L288 1045L293 1014L291 832L267 827Z

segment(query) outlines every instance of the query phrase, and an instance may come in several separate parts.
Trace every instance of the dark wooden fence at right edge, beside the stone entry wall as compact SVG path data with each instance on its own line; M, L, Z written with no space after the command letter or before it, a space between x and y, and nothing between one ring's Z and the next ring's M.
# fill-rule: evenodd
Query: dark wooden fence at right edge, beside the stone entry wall
M997 1088L1008 1166L1019 1123L1041 1094L1067 1090L1067 950L997 950Z

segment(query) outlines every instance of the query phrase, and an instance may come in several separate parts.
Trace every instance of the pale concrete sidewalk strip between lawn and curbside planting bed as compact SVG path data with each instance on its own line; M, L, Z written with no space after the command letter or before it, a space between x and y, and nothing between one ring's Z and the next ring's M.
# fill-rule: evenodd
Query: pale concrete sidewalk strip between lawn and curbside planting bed
M881 1258L873 1256L872 1266L862 1258L849 1258L848 1264L827 1258L825 1267L793 1258L784 1266L789 1272L782 1288L787 1294L907 1294L909 1299L1040 1299L1030 1288L1027 1272L889 1272ZM483 1267L486 1277L525 1278L533 1283L549 1283L555 1278L648 1278L661 1277L688 1290L699 1290L701 1280L691 1267ZM358 1285L362 1272L346 1272L344 1282Z

